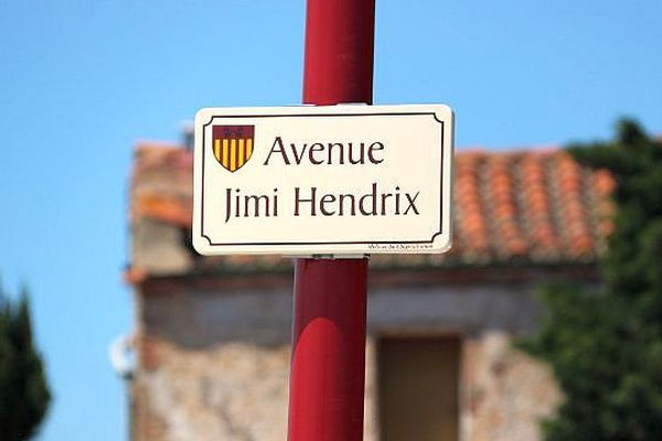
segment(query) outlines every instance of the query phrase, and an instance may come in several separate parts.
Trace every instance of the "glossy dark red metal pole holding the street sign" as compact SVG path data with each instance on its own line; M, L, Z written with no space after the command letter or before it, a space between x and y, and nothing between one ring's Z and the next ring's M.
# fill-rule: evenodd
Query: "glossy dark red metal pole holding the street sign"
M303 103L372 104L374 0L308 0ZM289 441L361 441L366 259L298 259Z

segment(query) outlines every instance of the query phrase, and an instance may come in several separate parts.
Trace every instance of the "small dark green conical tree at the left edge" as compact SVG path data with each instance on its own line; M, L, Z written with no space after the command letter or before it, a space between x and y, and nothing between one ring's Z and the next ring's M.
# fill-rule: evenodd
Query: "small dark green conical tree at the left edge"
M51 394L34 347L28 293L12 304L0 287L0 439L24 441L36 433Z

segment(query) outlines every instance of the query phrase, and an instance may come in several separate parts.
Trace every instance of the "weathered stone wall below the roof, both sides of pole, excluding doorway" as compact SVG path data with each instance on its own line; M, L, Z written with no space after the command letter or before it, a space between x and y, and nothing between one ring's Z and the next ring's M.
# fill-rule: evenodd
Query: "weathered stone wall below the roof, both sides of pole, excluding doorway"
M285 440L291 292L159 290L138 295L138 441ZM463 441L535 441L558 399L548 372L510 344L531 330L528 284L375 289L369 301L365 441L378 441L382 334L462 337Z

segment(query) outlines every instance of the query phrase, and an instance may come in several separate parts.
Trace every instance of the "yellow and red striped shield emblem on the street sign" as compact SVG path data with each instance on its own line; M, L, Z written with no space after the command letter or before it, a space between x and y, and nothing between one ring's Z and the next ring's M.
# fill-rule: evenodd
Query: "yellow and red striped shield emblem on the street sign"
M253 155L255 126L213 126L214 158L231 172L239 170Z

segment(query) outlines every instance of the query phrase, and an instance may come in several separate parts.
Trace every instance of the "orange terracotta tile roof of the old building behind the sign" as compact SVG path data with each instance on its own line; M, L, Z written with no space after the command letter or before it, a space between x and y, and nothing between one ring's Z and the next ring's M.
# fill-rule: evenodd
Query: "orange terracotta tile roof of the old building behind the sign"
M192 153L142 143L131 175L130 220L191 225ZM373 266L492 266L587 262L612 229L607 171L580 168L563 150L460 151L456 155L455 239L438 256L375 256ZM201 270L288 268L277 256L196 259ZM145 275L132 275L142 278Z

